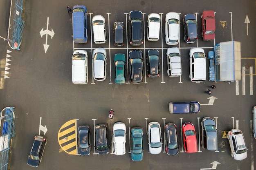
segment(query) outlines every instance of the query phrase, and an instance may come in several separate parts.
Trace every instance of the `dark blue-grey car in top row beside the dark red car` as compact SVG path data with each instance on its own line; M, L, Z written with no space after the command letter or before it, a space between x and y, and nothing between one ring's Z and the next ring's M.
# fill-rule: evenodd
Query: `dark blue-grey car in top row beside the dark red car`
M194 14L189 13L183 17L184 40L186 43L194 43L198 39L197 22Z

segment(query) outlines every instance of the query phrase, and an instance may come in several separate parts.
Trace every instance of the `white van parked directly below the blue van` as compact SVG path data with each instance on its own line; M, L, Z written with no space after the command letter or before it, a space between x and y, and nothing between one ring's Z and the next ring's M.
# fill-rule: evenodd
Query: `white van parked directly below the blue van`
M73 84L88 83L88 55L85 50L75 50L72 56Z

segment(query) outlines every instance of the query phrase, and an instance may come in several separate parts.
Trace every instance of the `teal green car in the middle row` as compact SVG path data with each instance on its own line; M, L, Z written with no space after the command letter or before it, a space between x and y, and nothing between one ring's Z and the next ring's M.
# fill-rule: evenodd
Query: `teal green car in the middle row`
M115 54L115 83L125 84L126 80L126 57L124 54Z

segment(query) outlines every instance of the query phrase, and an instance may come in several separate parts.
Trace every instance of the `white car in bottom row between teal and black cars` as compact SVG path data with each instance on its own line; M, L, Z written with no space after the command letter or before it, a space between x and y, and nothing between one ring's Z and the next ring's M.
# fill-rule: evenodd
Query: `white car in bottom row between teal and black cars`
M148 124L148 149L151 154L162 152L161 126L156 121Z

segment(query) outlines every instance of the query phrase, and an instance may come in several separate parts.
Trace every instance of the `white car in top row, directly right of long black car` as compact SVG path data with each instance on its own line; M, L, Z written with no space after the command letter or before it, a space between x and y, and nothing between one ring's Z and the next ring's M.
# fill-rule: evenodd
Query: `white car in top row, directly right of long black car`
M158 41L160 32L161 18L158 13L150 13L148 15L147 40Z

